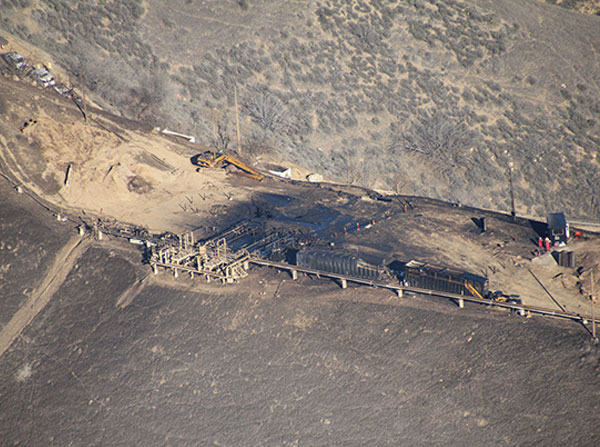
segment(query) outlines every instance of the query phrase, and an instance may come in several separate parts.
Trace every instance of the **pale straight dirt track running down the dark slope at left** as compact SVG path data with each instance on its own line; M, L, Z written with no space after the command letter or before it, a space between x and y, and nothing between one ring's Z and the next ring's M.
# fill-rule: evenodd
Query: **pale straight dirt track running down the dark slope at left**
M46 307L73 269L75 262L86 252L91 243L91 239L81 239L80 236L75 236L56 254L54 263L46 273L40 286L2 328L0 332L0 357Z

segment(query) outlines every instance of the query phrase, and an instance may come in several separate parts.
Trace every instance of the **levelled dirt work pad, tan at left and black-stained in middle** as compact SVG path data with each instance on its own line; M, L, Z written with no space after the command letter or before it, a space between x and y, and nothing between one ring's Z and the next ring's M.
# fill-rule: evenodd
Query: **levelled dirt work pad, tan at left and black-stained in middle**
M550 253L532 255L538 223L526 218L513 224L506 215L416 198L415 209L404 212L402 198L381 202L363 189L269 177L258 182L224 169L197 172L190 158L201 145L168 139L92 107L85 121L69 98L6 78L0 79L0 98L3 172L62 210L57 212L88 224L101 218L153 232L193 229L208 237L268 216L277 225L314 228L324 243L363 256L423 259L487 276L492 290L518 294L528 305L589 314L592 271L600 290L600 242L591 233L567 247L580 269L565 269ZM473 219L486 215L490 231L480 235ZM345 235L365 221L379 224Z

